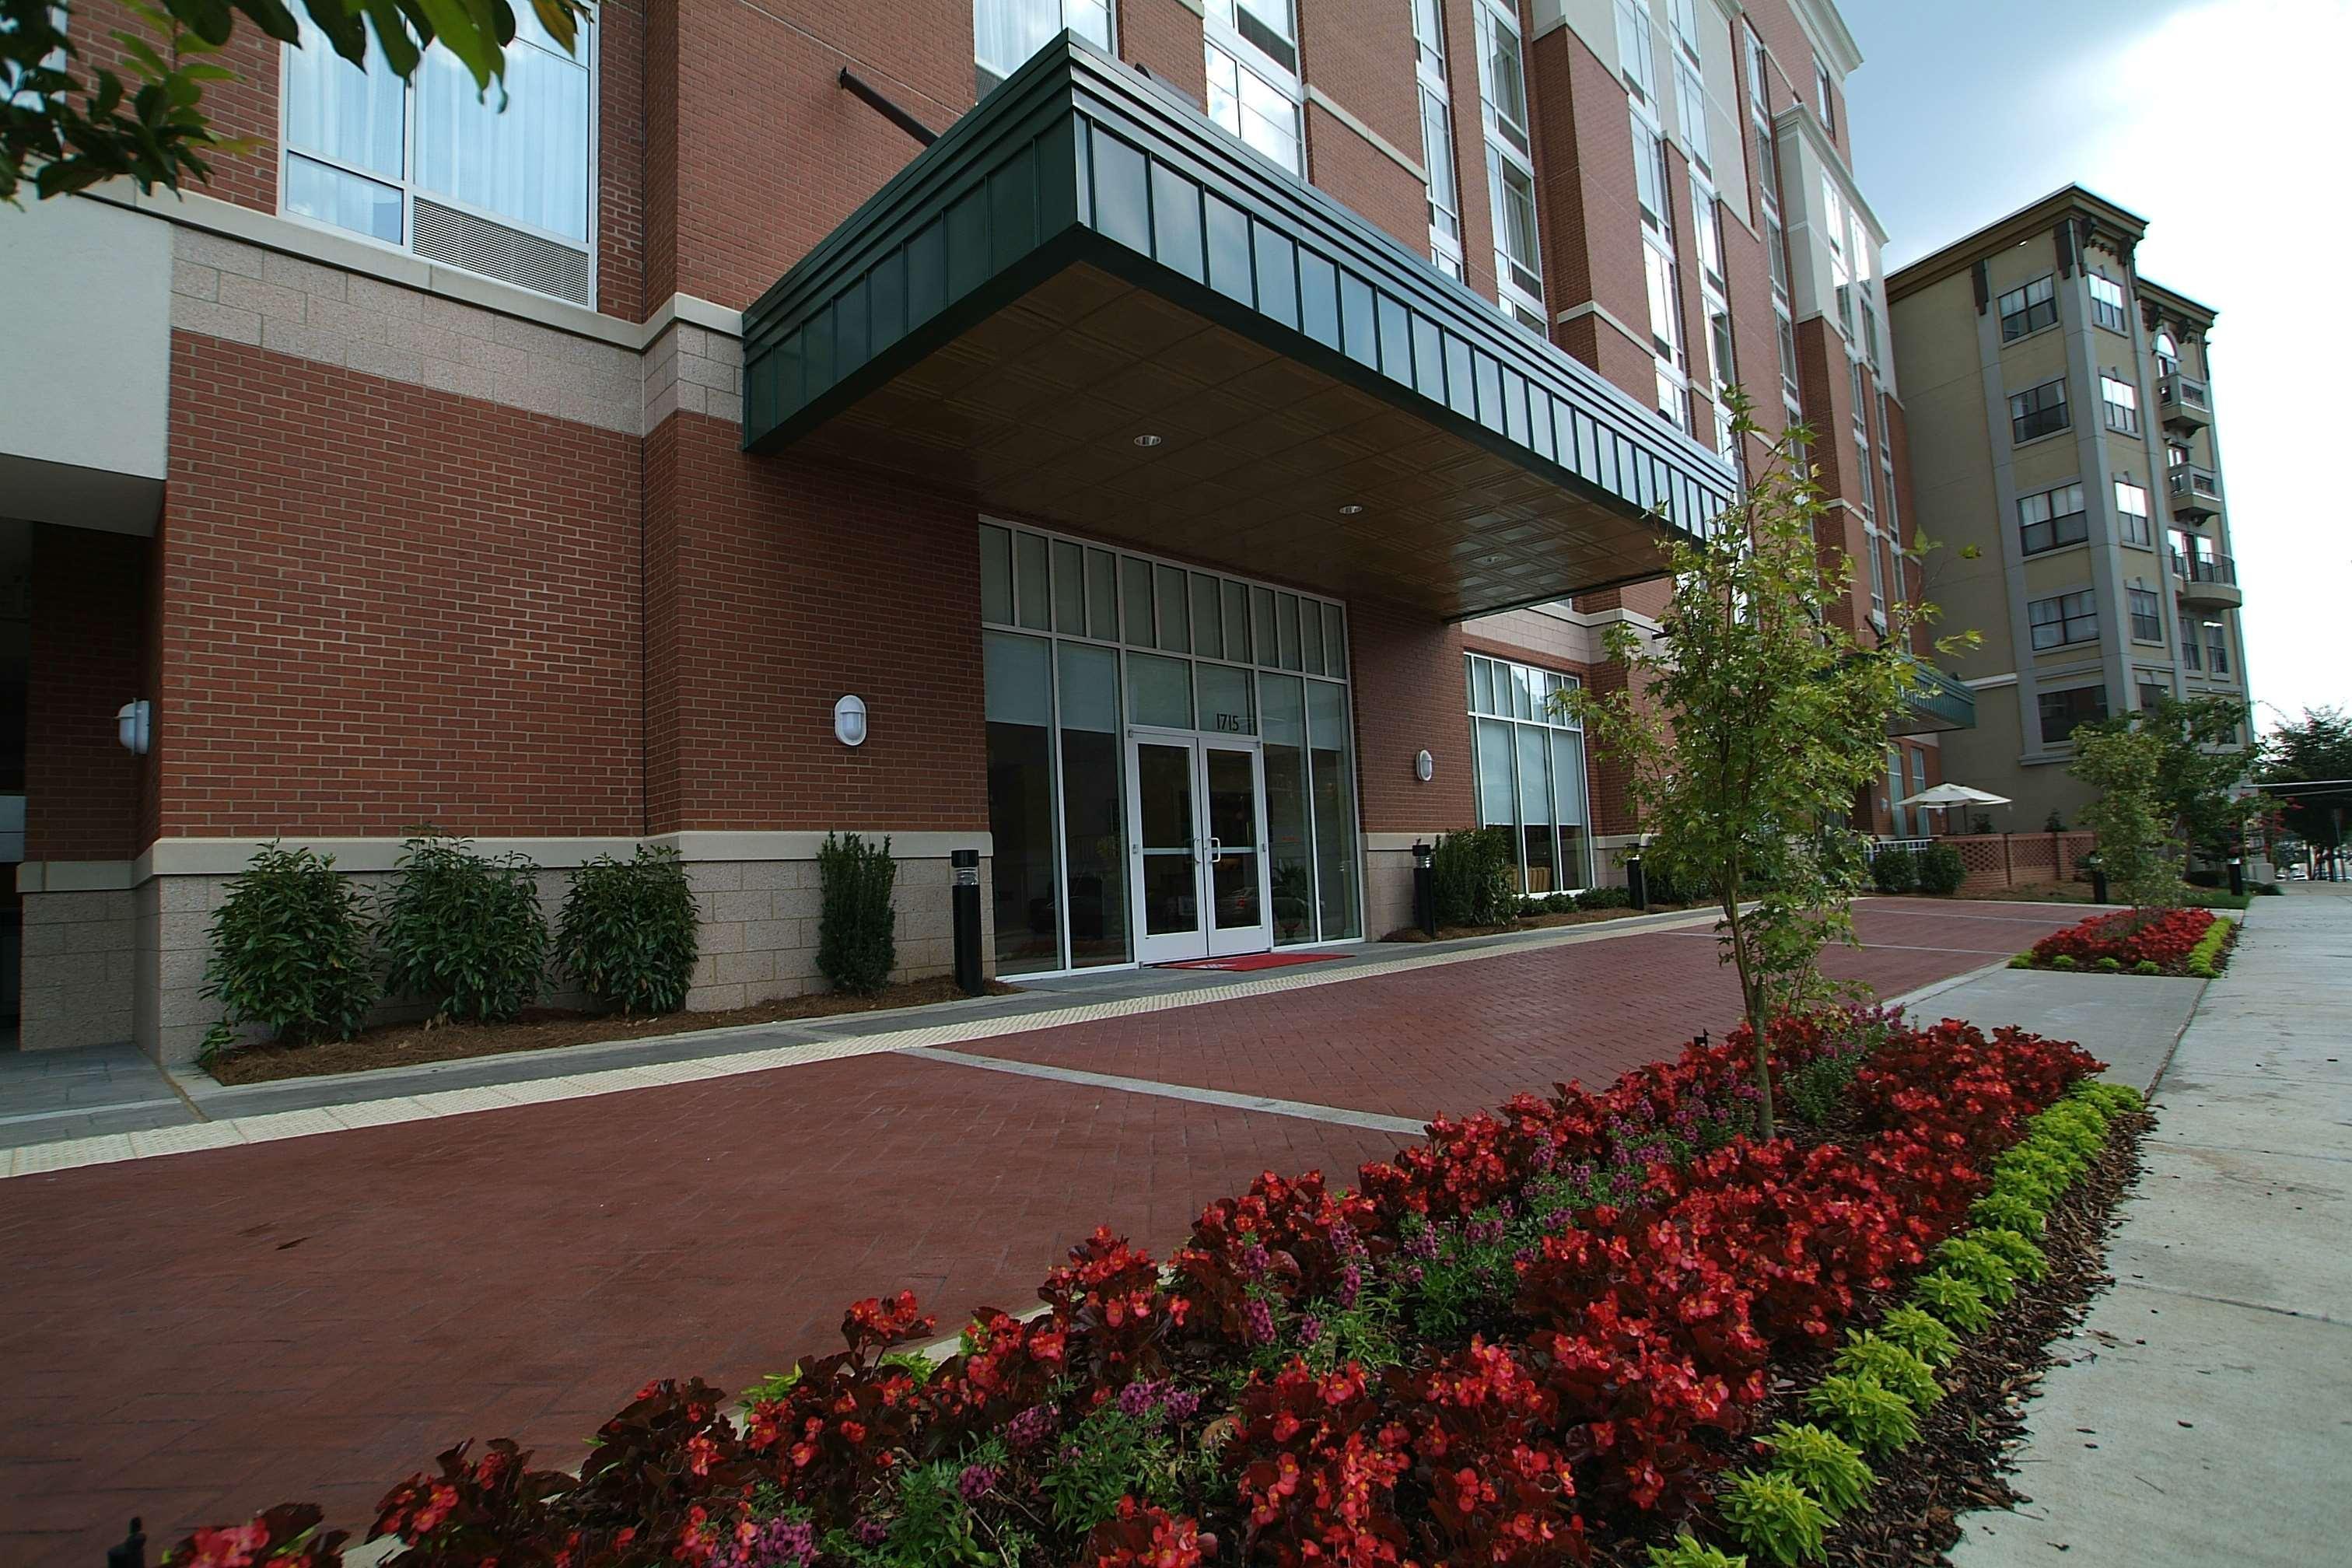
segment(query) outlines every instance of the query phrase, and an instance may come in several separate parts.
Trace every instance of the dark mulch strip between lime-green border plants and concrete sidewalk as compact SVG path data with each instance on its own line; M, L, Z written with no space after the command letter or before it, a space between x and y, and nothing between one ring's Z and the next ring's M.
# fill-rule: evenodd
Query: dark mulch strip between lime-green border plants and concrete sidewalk
M1936 1373L1943 1401L1919 1418L1919 1441L1889 1460L1872 1460L1879 1483L1867 1507L1828 1535L1832 1568L1922 1568L1950 1563L1959 1514L2013 1509L2032 1502L2009 1483L2011 1450L2025 1439L2025 1401L2051 1366L2051 1345L2072 1340L2091 1298L2114 1284L2107 1237L2117 1199L2140 1178L2140 1138L2154 1119L2119 1117L2098 1164L2058 1199L2042 1234L2051 1272L2020 1284L2018 1295L1980 1335L1964 1338L1959 1359ZM1804 1420L1797 1401L1825 1371L1792 1368L1757 1410L1757 1427Z

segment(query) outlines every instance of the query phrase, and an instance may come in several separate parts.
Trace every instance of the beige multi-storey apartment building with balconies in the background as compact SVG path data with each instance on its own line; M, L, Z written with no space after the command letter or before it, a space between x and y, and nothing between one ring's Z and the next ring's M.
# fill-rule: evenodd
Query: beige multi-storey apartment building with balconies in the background
M2246 693L2216 313L2138 275L2145 233L2067 186L1886 277L1926 597L1983 637L1943 776L2011 797L1994 830L2074 823L2077 724Z

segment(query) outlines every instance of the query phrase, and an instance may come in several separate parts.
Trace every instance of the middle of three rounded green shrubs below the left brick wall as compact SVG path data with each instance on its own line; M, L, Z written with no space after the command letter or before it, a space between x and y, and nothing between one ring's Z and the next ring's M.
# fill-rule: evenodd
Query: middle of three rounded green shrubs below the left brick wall
M539 999L548 917L527 856L477 856L433 827L400 849L376 943L393 994L423 997L435 1018L508 1023Z

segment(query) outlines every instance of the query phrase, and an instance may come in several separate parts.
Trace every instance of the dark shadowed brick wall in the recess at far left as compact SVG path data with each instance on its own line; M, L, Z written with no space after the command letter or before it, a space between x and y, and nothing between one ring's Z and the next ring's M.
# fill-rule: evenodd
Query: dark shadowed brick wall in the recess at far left
M146 762L115 738L115 710L146 686L153 541L33 524L26 672L26 860L139 853Z

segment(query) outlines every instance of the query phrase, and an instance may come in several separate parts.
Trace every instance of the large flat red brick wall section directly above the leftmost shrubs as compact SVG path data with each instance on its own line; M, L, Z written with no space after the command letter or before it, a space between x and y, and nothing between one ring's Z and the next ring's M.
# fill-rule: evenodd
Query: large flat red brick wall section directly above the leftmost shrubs
M637 832L637 508L630 435L176 331L160 832Z

